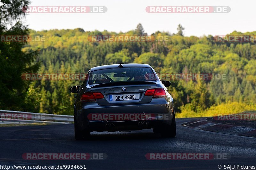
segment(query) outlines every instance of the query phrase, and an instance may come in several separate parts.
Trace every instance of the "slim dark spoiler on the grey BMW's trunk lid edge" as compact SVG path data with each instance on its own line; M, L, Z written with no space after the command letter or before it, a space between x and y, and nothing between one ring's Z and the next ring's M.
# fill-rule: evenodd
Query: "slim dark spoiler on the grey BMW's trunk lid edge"
M103 84L90 84L90 88L109 87L109 86L121 86L121 85L133 85L133 84L157 84L157 81L124 81L124 82L112 82Z

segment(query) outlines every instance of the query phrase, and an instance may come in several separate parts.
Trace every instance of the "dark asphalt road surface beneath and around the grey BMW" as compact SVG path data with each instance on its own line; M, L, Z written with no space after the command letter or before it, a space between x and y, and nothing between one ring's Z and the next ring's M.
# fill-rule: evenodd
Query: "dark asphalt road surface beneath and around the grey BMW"
M73 124L0 128L0 165L85 165L86 169L218 169L256 166L256 138L194 130L176 119L177 136L161 138L152 130L93 132L76 141ZM104 160L25 160L23 153L106 153ZM226 160L148 160L147 153L228 153Z

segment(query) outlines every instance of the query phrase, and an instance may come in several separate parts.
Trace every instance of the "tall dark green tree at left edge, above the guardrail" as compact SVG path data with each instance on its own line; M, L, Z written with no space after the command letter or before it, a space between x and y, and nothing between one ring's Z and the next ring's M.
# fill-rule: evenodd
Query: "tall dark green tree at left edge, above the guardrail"
M28 35L21 22L28 0L2 0L0 6L0 35ZM1 109L23 110L29 82L22 80L23 73L35 72L37 51L22 51L26 42L0 42L0 106Z

